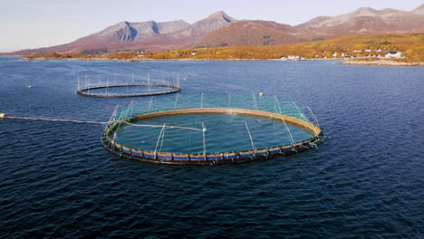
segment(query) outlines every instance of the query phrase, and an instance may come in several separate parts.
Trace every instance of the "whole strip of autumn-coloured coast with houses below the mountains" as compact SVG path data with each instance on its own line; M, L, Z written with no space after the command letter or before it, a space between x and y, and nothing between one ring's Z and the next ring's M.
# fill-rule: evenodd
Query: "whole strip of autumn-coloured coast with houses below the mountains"
M424 33L351 35L322 41L279 45L201 47L166 51L0 53L30 60L141 61L323 61L381 66L423 66ZM396 53L395 55L388 55ZM386 57L387 56L387 57Z

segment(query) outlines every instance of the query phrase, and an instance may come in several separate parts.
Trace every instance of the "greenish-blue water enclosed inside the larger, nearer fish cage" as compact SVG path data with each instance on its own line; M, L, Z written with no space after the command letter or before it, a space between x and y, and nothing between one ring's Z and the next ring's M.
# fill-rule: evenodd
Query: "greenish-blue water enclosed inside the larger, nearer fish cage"
M202 124L207 129L205 138ZM169 128L172 126L184 129ZM296 125L287 123L287 128L294 142L313 137ZM261 116L189 113L122 123L115 140L129 148L196 154L204 151L205 139L207 153L231 152L291 144L287 128L282 120Z

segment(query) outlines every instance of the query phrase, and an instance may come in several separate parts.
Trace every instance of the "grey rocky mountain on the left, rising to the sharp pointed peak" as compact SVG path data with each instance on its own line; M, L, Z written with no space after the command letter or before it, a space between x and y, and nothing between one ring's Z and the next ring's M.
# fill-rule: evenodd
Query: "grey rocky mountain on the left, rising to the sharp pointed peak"
M72 43L30 49L13 54L34 53L107 53L117 51L154 51L188 47L198 39L234 19L219 11L194 24L183 20L157 23L155 21L142 23L121 22L114 24L98 33L82 37Z

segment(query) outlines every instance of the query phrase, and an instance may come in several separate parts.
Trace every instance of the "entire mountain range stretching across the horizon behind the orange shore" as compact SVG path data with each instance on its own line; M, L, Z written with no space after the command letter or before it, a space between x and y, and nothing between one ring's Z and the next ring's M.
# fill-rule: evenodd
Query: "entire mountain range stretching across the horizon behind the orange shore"
M412 11L362 7L349 14L318 16L298 25L237 21L219 11L194 24L121 22L72 43L9 54L113 53L225 45L267 45L316 41L352 34L424 32L424 5Z

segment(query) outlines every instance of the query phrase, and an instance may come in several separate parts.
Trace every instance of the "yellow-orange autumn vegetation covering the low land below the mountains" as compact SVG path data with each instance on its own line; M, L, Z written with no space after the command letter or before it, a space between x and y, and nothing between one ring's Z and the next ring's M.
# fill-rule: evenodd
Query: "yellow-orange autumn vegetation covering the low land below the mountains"
M282 56L298 55L304 58L331 58L333 53L340 56L352 55L362 57L366 54L384 55L389 51L400 51L406 56L405 61L424 62L424 33L392 33L380 35L352 35L323 41L290 43L265 46L225 46L209 49L180 49L151 53L105 53L101 55L82 55L67 53L41 54L28 58L101 58L116 60L237 60L237 59L279 59ZM371 49L371 52L364 52ZM381 52L376 52L381 49ZM353 52L354 50L361 53ZM53 55L52 55L53 54Z

